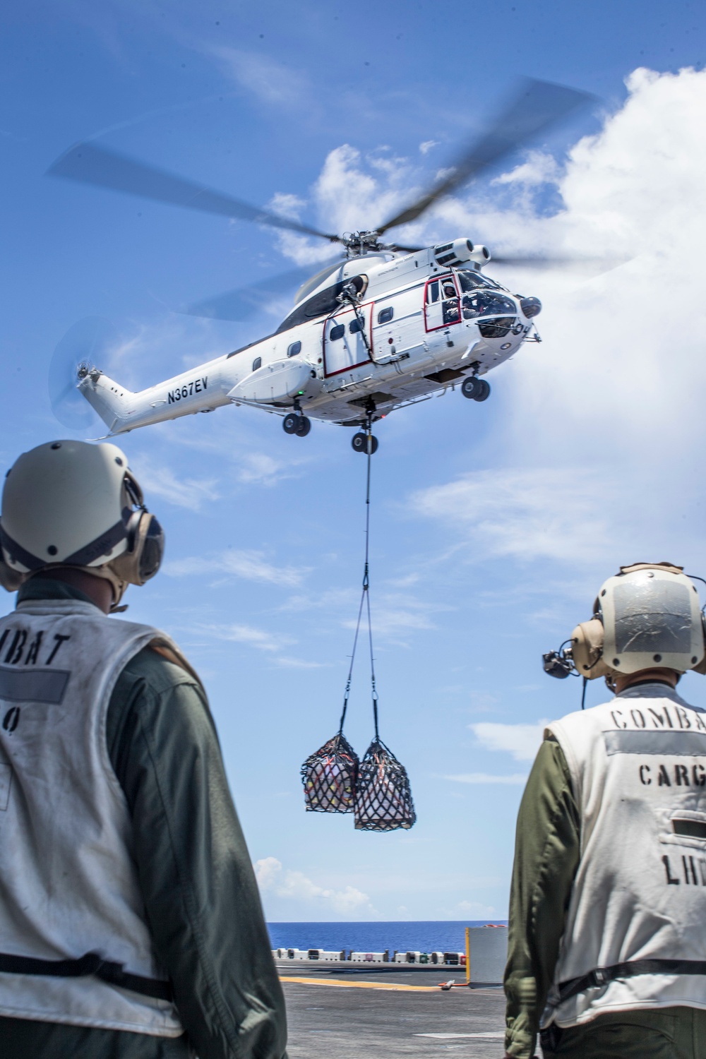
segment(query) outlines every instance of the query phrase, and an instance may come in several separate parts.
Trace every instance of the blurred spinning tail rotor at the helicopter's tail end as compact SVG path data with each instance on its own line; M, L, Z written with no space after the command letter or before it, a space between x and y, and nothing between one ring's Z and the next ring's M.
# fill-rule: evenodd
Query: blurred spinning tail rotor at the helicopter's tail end
M54 349L49 364L49 400L52 412L65 427L85 430L94 423L95 412L76 389L78 367L103 361L116 339L107 320L85 317L69 328Z

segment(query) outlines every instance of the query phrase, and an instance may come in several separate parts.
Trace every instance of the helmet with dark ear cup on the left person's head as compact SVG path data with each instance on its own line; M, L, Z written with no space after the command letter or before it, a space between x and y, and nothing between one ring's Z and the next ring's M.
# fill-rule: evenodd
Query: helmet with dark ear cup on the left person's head
M7 471L0 515L0 584L14 592L46 568L75 567L128 585L160 568L164 533L115 445L48 442Z

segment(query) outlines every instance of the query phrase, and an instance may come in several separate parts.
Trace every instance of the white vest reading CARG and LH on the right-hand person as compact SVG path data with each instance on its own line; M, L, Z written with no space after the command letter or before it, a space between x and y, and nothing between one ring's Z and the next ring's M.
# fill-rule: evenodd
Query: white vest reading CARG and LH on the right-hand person
M706 1008L706 714L650 683L546 734L566 757L581 852L542 1025Z

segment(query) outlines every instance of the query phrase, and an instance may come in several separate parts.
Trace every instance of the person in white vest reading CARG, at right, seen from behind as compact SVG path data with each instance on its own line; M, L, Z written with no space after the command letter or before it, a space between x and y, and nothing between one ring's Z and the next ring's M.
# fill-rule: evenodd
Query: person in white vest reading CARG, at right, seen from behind
M518 818L506 1055L706 1056L706 714L699 593L681 567L623 567L553 676L603 705L547 725ZM585 684L584 684L585 688Z

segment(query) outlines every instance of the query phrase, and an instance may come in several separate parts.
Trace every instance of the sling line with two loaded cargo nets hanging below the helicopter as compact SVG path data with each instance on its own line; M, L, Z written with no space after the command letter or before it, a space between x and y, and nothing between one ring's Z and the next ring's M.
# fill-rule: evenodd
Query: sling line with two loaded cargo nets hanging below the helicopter
M380 738L378 723L378 692L373 650L369 579L370 456L374 451L370 427L372 415L368 412L366 426L365 563L360 606L358 607L358 622L350 653L350 666L343 695L343 711L337 734L307 757L302 766L302 782L308 812L352 812L357 830L394 831L399 827L412 827L417 816L406 769ZM363 610L365 610L367 618L375 737L361 761L344 736L343 725L348 710Z

